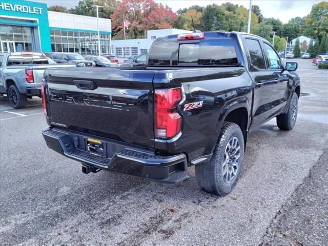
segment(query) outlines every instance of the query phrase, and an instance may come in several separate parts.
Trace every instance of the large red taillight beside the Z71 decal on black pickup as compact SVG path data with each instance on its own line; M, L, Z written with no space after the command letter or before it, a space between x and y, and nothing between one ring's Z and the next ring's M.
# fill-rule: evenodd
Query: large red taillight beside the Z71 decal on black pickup
M156 138L172 138L179 133L181 116L177 106L181 101L181 89L155 90L154 123Z

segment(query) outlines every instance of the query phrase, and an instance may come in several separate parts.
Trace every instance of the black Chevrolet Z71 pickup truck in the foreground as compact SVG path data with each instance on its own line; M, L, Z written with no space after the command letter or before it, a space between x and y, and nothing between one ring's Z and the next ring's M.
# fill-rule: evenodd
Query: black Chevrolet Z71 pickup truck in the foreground
M248 133L277 118L293 129L300 78L271 44L238 32L157 38L147 66L48 69L43 108L49 148L82 163L226 195L243 166Z

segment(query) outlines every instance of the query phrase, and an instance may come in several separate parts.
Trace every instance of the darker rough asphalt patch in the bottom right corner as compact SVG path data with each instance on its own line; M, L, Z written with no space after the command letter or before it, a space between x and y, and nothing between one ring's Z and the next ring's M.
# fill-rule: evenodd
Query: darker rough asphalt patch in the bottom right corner
M261 245L328 244L328 150L268 228Z

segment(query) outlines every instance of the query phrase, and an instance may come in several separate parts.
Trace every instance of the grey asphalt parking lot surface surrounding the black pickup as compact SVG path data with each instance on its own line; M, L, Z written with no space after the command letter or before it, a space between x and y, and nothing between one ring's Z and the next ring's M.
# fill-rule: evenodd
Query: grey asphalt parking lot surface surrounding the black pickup
M295 128L252 132L225 197L201 191L194 168L166 185L101 171L47 148L41 100L0 99L2 245L328 245L328 70L297 59Z

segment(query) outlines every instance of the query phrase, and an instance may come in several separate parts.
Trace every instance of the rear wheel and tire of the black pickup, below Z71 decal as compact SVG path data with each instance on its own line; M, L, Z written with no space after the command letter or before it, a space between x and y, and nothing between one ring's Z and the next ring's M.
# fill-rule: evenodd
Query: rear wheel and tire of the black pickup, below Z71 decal
M226 149L229 148L228 144L231 144L232 140L235 139L238 140L237 144L239 144L239 157L237 160L236 158L235 160L233 160L234 158L227 158L227 155L225 154ZM235 154L238 155L238 151ZM211 160L195 166L199 187L206 192L219 196L229 194L238 181L242 170L243 157L244 138L239 126L232 122L224 122ZM230 162L237 163L237 169L235 170L232 168L235 170L235 174L233 177L232 175L230 176L231 180L229 181L227 180L229 174L224 173L224 171L229 172L228 170L232 170L229 166L231 165ZM227 167L228 169L224 167Z

